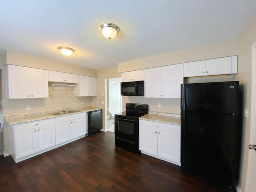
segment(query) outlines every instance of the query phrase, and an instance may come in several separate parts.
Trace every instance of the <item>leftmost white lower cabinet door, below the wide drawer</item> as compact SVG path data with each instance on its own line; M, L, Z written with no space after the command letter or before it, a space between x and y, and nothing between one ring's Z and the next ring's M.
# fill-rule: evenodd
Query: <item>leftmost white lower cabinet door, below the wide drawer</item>
M36 129L14 133L16 159L37 152Z

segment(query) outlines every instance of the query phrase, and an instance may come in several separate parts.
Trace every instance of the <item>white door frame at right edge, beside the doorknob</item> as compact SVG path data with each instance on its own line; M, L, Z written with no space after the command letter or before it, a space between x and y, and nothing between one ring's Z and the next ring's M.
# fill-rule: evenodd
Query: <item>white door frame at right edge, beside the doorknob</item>
M252 142L256 140L256 138L254 138L255 128L256 128L255 114L256 114L256 42L252 44L252 99L251 99L250 144L252 144ZM249 150L245 191L249 190L249 185L250 185L250 174L252 171L251 167L253 163L252 152L254 152L254 150Z

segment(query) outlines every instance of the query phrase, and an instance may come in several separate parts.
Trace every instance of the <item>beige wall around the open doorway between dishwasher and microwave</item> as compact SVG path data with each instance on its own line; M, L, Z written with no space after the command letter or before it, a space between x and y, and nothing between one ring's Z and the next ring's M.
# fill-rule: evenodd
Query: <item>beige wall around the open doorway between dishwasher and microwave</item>
M98 70L98 78L97 78L97 96L93 97L92 99L92 105L94 107L100 107L103 108L102 110L102 116L103 116L103 122L105 122L106 119L106 113L107 113L107 89L105 89L106 80L109 78L117 78L121 77L121 73L118 73L118 69L116 68L109 68L104 70ZM104 95L103 95L104 94ZM98 104L97 104L98 101ZM104 101L104 104L102 104L102 101ZM103 123L103 130L105 130L105 124Z

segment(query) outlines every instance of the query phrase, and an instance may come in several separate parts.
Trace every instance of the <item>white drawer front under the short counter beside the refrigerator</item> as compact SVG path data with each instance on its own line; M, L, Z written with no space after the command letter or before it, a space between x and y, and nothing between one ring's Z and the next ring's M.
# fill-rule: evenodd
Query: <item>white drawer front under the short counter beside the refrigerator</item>
M150 128L150 129L166 131L166 132L174 133L174 134L176 134L177 131L180 130L180 126L178 126L178 125L146 121L146 120L140 120L140 126Z

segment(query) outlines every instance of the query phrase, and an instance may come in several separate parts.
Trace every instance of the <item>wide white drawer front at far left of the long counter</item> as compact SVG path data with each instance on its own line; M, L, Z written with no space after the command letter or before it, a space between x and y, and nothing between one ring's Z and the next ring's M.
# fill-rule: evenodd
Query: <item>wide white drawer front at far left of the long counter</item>
M38 127L48 126L52 124L54 124L54 118L32 121L28 123L20 123L20 124L13 125L13 128L14 128L14 132L19 132L19 131L38 128Z

